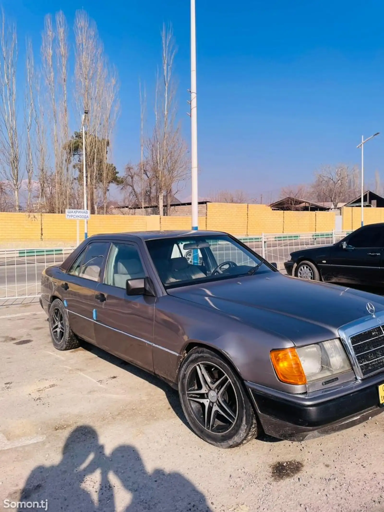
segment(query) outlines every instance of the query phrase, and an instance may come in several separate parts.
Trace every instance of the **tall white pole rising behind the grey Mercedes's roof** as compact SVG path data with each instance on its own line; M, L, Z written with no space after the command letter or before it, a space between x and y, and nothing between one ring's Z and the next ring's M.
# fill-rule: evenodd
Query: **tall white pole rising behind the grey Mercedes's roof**
M199 227L197 188L197 101L196 101L196 7L190 0L190 125L192 229Z

